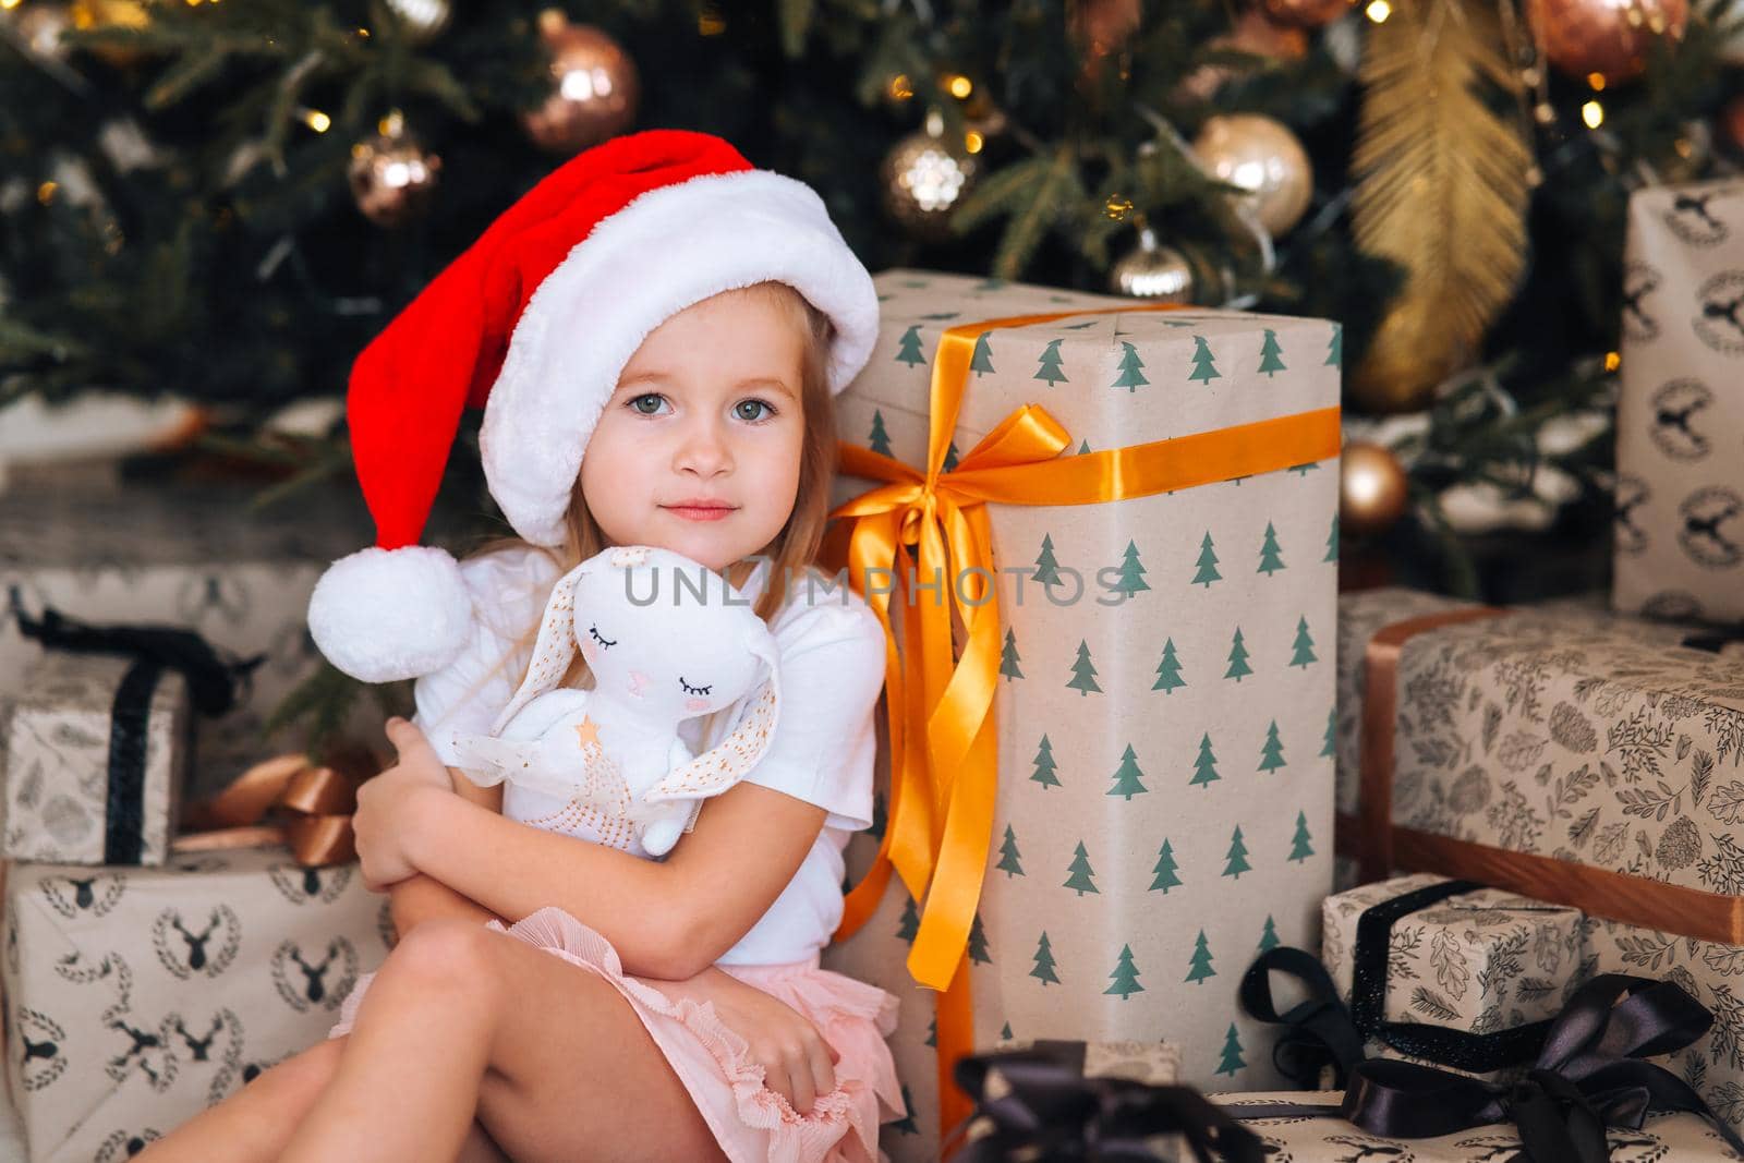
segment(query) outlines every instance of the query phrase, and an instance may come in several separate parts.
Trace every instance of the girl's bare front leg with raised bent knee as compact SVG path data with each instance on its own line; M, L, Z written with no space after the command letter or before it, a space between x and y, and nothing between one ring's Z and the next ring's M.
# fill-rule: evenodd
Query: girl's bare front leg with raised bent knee
M453 1158L474 1112L514 1160L720 1160L605 980L467 921L417 926L358 1010L338 1072L286 1163Z

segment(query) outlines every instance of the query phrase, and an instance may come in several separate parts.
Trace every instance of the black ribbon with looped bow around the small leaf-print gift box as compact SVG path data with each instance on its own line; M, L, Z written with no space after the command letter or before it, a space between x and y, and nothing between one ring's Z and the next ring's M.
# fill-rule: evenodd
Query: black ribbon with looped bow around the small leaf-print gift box
M1334 1086L1343 1086L1352 1069L1364 1060L1364 1044L1373 1037L1414 1058L1428 1058L1460 1071L1488 1072L1505 1065L1531 1062L1550 1022L1529 1022L1507 1030L1474 1034L1420 1022L1386 1022L1386 957L1397 921L1441 903L1449 896L1472 893L1479 884L1444 881L1402 893L1371 905L1357 917L1352 950L1352 1001L1346 1008L1332 987L1320 959L1301 949L1268 949L1242 975L1242 1008L1256 1022L1287 1027L1271 1048L1271 1062L1298 1090L1320 1090L1320 1071L1332 1067ZM1271 975L1296 978L1308 999L1278 1013L1271 996Z

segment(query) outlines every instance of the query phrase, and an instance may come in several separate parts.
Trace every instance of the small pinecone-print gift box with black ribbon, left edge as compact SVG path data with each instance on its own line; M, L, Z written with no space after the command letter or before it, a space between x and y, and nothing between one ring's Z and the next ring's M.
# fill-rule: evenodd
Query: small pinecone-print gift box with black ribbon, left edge
M160 865L192 757L187 680L150 663L49 654L0 696L0 854Z

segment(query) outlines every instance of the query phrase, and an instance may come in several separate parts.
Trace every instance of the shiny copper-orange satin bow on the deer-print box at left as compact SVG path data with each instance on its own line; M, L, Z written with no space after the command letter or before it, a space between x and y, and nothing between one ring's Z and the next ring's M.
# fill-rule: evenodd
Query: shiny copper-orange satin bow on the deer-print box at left
M342 865L358 856L351 816L358 809L359 772L373 774L363 755L345 769L314 767L307 755L279 755L255 764L230 786L183 814L190 828L171 844L176 853L288 844L305 868ZM281 814L281 823L262 823Z

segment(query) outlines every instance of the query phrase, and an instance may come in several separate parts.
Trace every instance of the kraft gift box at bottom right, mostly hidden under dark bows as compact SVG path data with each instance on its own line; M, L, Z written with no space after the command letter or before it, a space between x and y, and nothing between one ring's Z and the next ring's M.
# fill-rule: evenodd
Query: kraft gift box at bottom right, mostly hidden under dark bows
M1268 1160L1291 1163L1353 1163L1357 1160L1411 1160L1413 1163L1493 1163L1521 1158L1519 1133L1507 1125L1477 1126L1435 1139L1371 1135L1338 1118L1343 1092L1278 1092L1210 1095L1264 1142ZM1325 1107L1325 1116L1242 1118L1243 1107L1298 1104ZM1695 1114L1650 1114L1639 1130L1606 1128L1610 1158L1638 1163L1720 1163L1739 1154Z

